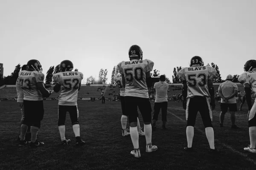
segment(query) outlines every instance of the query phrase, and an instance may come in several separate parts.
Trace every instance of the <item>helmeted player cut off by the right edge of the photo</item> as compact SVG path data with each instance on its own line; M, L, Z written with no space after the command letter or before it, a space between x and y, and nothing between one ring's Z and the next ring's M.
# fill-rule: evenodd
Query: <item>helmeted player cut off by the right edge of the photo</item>
M256 153L256 100L251 103L251 91L256 94L256 60L250 59L244 65L244 73L242 73L238 81L244 85L245 98L248 105L248 126L250 136L250 146L244 147L244 150Z

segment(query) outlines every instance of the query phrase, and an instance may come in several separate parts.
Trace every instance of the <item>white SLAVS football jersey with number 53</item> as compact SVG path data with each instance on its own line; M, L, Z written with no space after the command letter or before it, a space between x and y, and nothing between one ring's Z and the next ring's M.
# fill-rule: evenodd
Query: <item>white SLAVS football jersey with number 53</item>
M186 80L188 93L186 98L193 96L209 97L208 80L213 79L216 75L215 68L211 66L186 67L178 72L181 81Z

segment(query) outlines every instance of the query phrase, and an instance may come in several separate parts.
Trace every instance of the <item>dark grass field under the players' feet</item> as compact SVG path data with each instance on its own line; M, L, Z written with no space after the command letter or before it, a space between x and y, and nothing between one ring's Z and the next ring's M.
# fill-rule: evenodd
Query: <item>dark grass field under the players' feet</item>
M247 127L247 106L236 113L239 130L232 130L230 114L226 113L224 127L219 127L220 107L213 111L215 146L219 155L208 153L209 144L204 125L198 113L193 147L187 153L185 112L181 103L169 102L167 130L158 128L152 133L152 142L158 150L145 152L145 136L140 136L141 159L130 155L133 150L131 137L122 137L120 102L78 101L80 134L86 141L82 147L75 146L69 114L66 119L67 146L61 146L58 132L58 101L44 101L44 119L39 139L44 146L38 148L18 147L21 113L16 101L0 102L0 169L81 169L81 170L256 170L256 154L243 150L250 144ZM152 108L154 104L151 103ZM35 111L36 112L36 111ZM140 125L143 127L140 115ZM161 113L159 116L161 120Z

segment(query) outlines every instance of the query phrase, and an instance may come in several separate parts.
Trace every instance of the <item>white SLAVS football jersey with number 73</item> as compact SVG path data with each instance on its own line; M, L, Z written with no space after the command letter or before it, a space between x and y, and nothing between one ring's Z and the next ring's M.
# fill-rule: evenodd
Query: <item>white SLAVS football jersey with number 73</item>
M41 92L37 89L38 82L44 82L44 74L38 71L20 71L19 84L23 89L24 100L43 100Z

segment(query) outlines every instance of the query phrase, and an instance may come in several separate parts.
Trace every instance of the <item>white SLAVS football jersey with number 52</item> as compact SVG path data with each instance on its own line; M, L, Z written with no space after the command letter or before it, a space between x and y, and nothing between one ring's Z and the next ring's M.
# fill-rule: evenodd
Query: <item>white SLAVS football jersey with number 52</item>
M83 77L79 71L59 72L52 76L53 82L61 85L58 105L77 105L79 83Z

